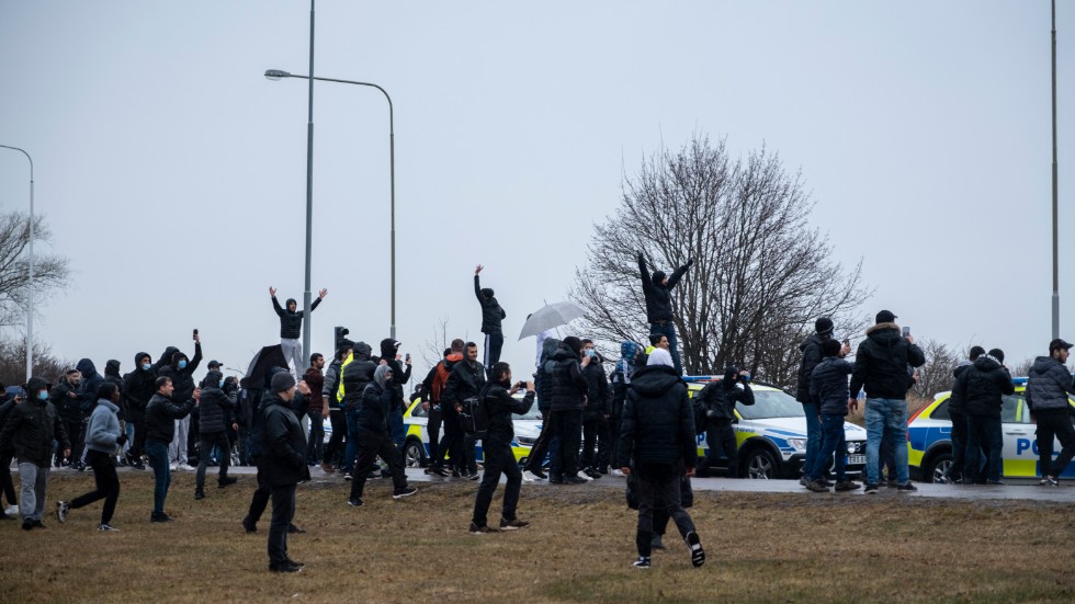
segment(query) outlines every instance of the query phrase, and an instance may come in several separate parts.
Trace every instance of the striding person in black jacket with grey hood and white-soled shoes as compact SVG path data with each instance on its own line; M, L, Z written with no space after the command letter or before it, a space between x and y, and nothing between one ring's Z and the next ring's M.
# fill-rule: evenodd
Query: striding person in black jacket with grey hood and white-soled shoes
M354 463L354 478L351 480L351 497L348 499L348 504L353 508L362 506L362 491L377 456L388 464L392 472L393 499L417 492L417 489L407 486L399 449L388 434L388 414L395 400L392 376L392 367L380 365L373 374L373 381L362 391L362 407L358 417L359 455Z

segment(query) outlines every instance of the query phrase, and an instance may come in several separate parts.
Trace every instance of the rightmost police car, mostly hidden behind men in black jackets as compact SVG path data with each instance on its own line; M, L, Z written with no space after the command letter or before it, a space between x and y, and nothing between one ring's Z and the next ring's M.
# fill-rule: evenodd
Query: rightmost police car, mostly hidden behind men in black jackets
M1014 395L1005 395L1000 407L1000 432L1004 447L1000 452L1000 474L1008 478L1036 478L1038 471L1037 426L1030 420L1027 406L1027 378L1011 379ZM948 413L951 392L941 392L933 402L915 413L907 424L907 456L910 477L915 480L936 482L952 465L952 418ZM1071 400L1075 404L1075 400ZM1059 442L1053 455L1060 454ZM1075 478L1075 461L1061 474Z

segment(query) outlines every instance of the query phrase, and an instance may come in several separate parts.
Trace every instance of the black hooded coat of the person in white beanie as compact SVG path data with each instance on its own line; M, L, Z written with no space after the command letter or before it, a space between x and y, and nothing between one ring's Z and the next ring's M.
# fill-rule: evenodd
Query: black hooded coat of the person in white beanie
M698 463L694 411L674 367L648 365L631 378L616 465L626 467L632 460L669 466L682 461L688 468Z

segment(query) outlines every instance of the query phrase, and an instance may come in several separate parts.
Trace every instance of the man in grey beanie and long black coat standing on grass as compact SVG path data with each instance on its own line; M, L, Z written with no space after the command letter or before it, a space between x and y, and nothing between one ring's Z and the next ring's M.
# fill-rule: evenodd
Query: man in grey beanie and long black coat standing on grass
M295 488L309 480L306 434L295 414L295 378L287 372L272 376L271 392L261 399L264 449L258 471L272 494L269 525L269 570L297 572L303 568L287 555L287 534L295 517Z

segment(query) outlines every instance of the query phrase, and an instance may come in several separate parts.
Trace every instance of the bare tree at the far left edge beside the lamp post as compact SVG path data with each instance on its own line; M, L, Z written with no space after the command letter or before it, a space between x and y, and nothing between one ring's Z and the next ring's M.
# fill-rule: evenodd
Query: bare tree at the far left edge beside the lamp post
M52 240L44 217L34 218L34 301L48 297L63 288L68 275L68 259L42 253L38 243ZM20 212L0 214L0 327L18 324L25 318L26 284L30 281L30 263L26 247L30 244L30 217Z

